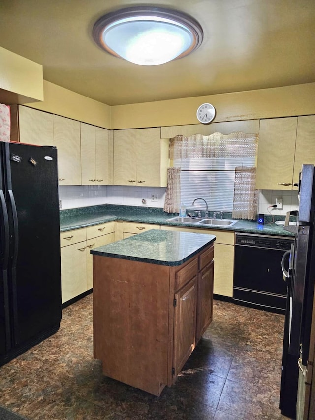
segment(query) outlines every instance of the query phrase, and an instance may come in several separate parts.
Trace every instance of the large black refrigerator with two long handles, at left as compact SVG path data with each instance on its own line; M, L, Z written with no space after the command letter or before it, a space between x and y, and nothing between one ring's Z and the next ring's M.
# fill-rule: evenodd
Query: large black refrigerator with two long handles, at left
M0 366L60 326L57 149L0 142Z

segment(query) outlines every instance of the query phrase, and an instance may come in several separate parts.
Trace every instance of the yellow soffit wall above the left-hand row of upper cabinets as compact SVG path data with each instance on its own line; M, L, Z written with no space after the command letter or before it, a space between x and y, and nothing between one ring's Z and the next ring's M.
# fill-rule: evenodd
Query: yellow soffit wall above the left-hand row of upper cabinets
M111 107L44 80L43 102L26 103L41 111L62 115L105 129L111 128Z

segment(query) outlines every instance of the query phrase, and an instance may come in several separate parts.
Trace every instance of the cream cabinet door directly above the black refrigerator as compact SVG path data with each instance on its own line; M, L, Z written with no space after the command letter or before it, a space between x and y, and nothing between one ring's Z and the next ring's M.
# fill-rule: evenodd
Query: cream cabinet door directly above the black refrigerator
M19 133L22 143L54 146L53 115L27 106L19 106Z

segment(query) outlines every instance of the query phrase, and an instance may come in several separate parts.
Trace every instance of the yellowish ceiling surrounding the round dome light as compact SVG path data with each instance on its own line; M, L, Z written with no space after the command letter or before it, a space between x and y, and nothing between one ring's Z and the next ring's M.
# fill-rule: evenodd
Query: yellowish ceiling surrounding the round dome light
M141 4L202 26L201 47L158 66L112 57L95 21ZM0 0L0 46L43 65L44 79L108 105L315 82L314 0Z

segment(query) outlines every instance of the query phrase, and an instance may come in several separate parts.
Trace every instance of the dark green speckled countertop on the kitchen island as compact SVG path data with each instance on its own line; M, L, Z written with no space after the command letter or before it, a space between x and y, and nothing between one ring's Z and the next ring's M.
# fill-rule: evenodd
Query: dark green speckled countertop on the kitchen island
M151 264L181 265L202 251L216 237L170 230L152 229L90 251L102 257L129 259Z

